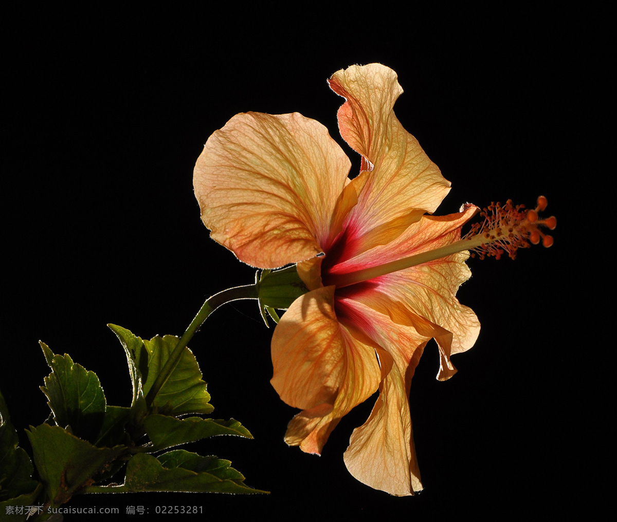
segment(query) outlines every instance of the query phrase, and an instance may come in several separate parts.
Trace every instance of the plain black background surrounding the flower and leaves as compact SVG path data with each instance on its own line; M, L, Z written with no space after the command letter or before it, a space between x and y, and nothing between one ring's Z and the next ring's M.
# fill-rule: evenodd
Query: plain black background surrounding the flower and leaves
M507 198L531 206L544 194L558 228L548 250L470 260L474 275L458 296L481 320L478 342L454 357L459 372L447 382L435 379L429 345L412 384L420 495L390 497L344 467L373 399L342 420L321 457L284 444L295 410L270 386L272 330L246 301L217 311L191 348L215 417L238 418L255 439L186 448L232 460L247 484L271 494L88 495L68 506L143 505L152 517L157 505L202 505L217 516L326 520L594 510L612 459L602 434L610 345L600 337L610 314L594 289L614 263L594 250L592 214L611 187L602 13L104 5L2 21L0 385L28 451L23 428L48 415L39 339L96 372L108 404L128 405L125 356L108 322L143 338L180 335L207 296L252 282L254 269L209 239L193 195L194 162L215 129L247 110L297 111L325 124L358 168L337 132L342 99L326 84L340 68L381 62L397 71L397 116L452 182L438 214Z

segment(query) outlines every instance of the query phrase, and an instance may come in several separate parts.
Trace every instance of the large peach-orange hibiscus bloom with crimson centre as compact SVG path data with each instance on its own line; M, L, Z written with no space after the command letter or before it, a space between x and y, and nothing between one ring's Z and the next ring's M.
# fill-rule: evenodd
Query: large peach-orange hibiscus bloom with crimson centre
M296 263L309 289L271 343L271 383L302 409L286 442L320 454L341 418L379 390L344 460L368 486L410 495L422 489L409 393L424 346L436 340L445 380L456 372L450 356L478 337L476 315L455 297L471 275L460 229L477 209L429 215L450 183L394 115L394 71L352 66L329 85L346 99L339 129L362 156L357 177L317 121L249 112L210 136L195 193L214 240L254 267Z

